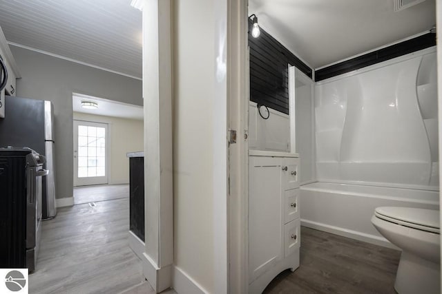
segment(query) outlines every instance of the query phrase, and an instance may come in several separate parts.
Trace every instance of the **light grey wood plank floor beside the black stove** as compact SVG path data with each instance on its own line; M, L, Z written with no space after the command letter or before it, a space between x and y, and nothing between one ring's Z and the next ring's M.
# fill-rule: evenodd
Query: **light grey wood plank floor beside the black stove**
M128 246L128 198L95 204L59 209L55 219L43 222L29 293L154 293Z

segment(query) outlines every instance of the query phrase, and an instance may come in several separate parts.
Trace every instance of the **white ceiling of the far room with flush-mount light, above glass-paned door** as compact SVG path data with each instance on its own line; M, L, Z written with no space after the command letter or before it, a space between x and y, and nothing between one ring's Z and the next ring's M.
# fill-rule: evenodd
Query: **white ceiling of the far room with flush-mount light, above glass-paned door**
M81 107L81 101L93 101L98 104L97 109L86 109ZM115 102L104 98L97 98L83 94L73 94L72 105L74 112L94 114L97 116L113 116L118 118L130 118L142 120L144 117L143 107L121 102Z

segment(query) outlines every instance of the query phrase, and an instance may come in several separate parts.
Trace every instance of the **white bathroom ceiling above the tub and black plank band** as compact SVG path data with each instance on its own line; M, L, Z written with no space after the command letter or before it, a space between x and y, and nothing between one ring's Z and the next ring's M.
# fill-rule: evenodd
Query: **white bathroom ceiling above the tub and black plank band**
M435 0L398 12L394 0L249 0L249 15L253 13L264 30L313 68L430 30L436 23Z

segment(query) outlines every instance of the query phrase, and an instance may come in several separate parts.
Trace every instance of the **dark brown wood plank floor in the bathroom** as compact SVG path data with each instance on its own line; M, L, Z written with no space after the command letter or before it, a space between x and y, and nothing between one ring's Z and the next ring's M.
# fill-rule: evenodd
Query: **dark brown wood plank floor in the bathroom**
M400 251L301 227L300 267L264 293L396 293Z

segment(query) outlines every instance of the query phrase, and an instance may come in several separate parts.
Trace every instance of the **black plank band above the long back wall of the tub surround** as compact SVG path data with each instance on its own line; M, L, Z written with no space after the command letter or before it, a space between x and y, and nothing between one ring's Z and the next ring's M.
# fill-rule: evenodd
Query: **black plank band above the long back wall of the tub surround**
M394 59L398 56L403 56L418 50L430 48L436 45L436 34L427 33L416 38L397 43L386 48L382 48L367 54L349 59L328 67L321 68L315 71L315 81L323 81L326 78L359 70L362 67L381 63L389 59Z

